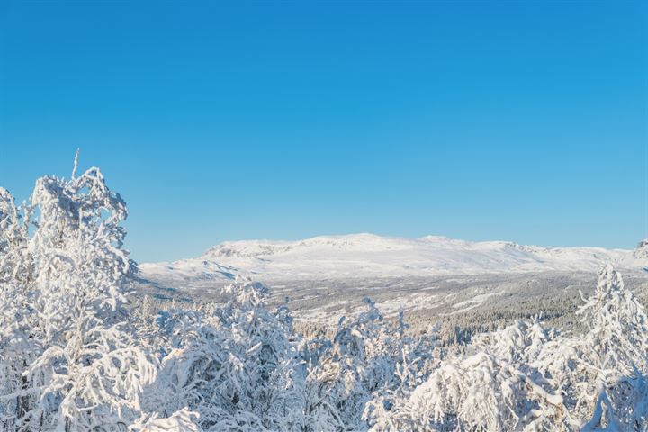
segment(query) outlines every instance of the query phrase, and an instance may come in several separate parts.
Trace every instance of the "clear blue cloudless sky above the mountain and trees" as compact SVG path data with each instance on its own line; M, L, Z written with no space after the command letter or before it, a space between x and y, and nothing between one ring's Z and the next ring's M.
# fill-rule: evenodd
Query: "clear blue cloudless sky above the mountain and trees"
M26 198L80 147L140 261L648 236L645 2L272 3L0 2L0 184Z

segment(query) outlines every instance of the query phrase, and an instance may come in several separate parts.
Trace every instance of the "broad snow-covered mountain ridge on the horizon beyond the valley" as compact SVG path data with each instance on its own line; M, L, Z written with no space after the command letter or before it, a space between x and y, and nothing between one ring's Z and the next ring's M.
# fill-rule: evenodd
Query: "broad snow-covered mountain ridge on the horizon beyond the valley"
M373 234L300 241L229 241L202 257L142 264L151 280L261 281L390 276L483 275L542 271L596 271L602 263L639 270L648 257L601 247L536 247L506 241L470 242L446 237L392 238Z

